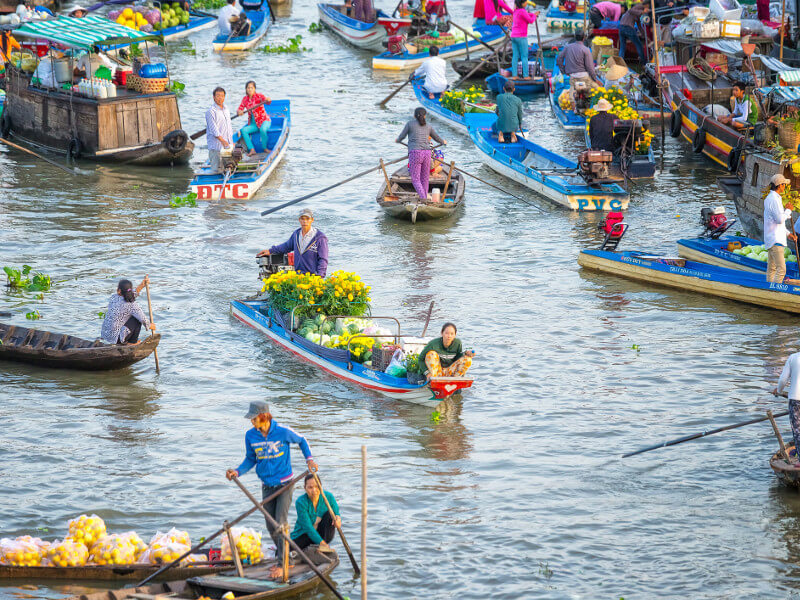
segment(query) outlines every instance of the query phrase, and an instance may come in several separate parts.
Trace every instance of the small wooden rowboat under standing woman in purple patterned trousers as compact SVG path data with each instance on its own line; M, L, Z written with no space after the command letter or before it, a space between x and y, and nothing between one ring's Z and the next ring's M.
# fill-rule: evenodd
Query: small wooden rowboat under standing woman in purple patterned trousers
M411 184L407 166L392 173L389 178L391 189L387 191L386 182L384 182L375 200L386 214L398 219L410 220L412 223L450 217L464 202L465 182L464 176L454 169L453 176L448 183L449 171L450 165L442 165L442 172L428 182L428 189L431 192L436 188L440 193L444 193L444 186L447 184L447 194L440 202L419 201L419 196Z

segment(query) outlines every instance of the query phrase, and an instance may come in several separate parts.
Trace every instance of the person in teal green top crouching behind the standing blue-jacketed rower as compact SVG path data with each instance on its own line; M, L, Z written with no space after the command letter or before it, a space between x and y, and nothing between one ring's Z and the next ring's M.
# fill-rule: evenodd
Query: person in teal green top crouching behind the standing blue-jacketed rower
M314 544L319 546L320 552L333 552L328 544L336 535L336 528L342 526L336 498L330 492L325 492L325 498L328 499L328 504L331 505L335 515L335 518L332 518L328 504L325 504L325 500L320 498L322 494L313 474L306 475L303 487L306 493L294 503L295 510L297 510L297 521L295 521L291 538L295 544L300 546L301 550Z

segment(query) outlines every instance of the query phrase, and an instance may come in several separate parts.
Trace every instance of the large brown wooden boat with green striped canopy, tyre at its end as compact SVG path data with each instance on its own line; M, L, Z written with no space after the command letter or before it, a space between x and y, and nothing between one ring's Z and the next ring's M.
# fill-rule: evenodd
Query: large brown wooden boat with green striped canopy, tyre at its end
M85 50L110 40L154 39L100 15L29 22L14 36ZM71 68L68 73L71 77ZM114 98L94 98L34 84L29 73L13 66L6 75L3 136L96 161L171 165L187 163L192 155L194 144L181 128L178 99L172 92L144 94L117 87Z

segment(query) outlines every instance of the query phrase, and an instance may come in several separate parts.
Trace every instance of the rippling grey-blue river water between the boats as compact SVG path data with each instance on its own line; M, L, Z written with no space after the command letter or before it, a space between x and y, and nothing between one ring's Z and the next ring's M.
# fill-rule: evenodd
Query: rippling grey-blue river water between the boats
M448 160L541 210L468 180L462 214L411 226L378 210L377 174L304 204L330 239L330 270L361 274L376 314L416 332L435 301L433 329L454 320L476 350L475 386L438 422L297 363L230 316L230 300L258 285L254 254L297 226L297 208L259 211L402 155L393 139L415 106L404 90L377 109L402 76L309 34L311 5L287 12L268 42L302 33L313 51L219 57L213 31L191 38L196 55L177 51L189 42L170 45L189 132L216 85L234 108L248 79L291 98L288 154L252 201L170 209L189 168L81 163L70 178L0 149L0 265L56 281L43 301L0 293L0 310L22 325L38 310L37 326L91 338L116 280L149 273L164 335L160 375L152 360L99 375L0 365L0 535L62 537L83 512L143 537L171 526L207 535L248 508L223 473L242 458L248 403L268 400L308 437L356 554L367 446L370 598L800 595L800 501L769 470L768 424L619 458L782 409L768 390L796 349L792 319L582 272L576 257L599 242L598 216L494 175L447 126ZM466 21L469 7L454 12ZM526 104L526 122L549 148L580 148L544 98ZM701 207L734 212L709 162L669 137L664 156L655 182L634 186L625 247L674 253L675 239L699 231ZM256 489L252 474L244 481ZM342 558L334 579L355 598ZM80 589L3 585L3 598Z

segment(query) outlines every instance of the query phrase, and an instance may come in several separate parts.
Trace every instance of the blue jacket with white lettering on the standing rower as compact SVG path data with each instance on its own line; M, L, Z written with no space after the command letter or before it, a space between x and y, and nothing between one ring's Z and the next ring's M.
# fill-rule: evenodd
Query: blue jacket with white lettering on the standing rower
M298 444L306 460L312 458L306 438L289 427L282 427L273 420L267 437L253 427L244 435L245 456L236 470L241 476L255 465L256 475L264 485L281 485L292 478L289 444Z

